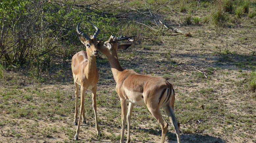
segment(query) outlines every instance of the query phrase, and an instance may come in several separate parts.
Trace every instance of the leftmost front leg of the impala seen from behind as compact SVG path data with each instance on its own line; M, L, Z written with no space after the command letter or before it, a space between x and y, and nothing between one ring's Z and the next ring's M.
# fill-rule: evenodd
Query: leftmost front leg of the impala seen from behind
M121 100L121 120L122 120L122 130L121 130L120 143L123 143L124 142L124 130L125 130L127 104L126 104L125 99L120 99L120 100Z

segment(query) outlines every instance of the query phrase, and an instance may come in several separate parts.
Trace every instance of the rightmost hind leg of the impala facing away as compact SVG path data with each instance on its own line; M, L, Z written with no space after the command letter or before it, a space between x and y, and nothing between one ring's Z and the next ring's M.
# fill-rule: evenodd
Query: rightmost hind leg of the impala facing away
M178 121L177 121L177 119L174 115L173 108L167 106L164 109L165 109L166 114L169 117L169 120L171 121L171 123L172 123L172 125L175 129L176 136L177 136L177 141L178 141L178 143L180 143L180 128L179 128L179 125L178 125Z

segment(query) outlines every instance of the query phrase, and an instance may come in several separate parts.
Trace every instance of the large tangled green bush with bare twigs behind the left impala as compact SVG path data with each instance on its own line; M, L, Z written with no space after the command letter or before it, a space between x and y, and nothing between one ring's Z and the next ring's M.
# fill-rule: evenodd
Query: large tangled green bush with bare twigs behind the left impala
M109 31L116 33L119 29L116 18L86 9L71 9L72 3L68 1L63 5L47 1L34 5L30 0L5 0L0 4L0 25L3 26L0 60L8 65L30 67L35 59L50 65L51 57L70 57L76 52L72 50L74 47L81 47L76 32L80 21L83 21L81 30L87 34L93 34L95 29L86 21L100 28L97 39L109 37L112 34Z

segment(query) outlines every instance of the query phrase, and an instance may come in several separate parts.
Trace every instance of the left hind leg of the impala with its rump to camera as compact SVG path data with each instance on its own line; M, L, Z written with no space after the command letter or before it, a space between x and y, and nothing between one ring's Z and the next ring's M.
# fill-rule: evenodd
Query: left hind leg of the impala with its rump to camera
M162 128L161 143L164 143L165 142L165 136L166 136L167 128L168 128L168 123L166 123L166 121L164 120L160 110L156 109L156 108L153 108L153 107L156 107L156 106L150 106L150 107L148 107L148 110L154 116L154 118L158 121L158 123L160 124L160 126Z

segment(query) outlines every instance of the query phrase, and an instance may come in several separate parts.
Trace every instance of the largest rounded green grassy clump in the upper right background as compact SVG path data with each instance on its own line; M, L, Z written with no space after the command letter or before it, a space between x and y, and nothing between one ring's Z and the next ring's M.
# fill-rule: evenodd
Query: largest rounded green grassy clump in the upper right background
M218 27L223 27L227 21L227 15L222 10L212 12L212 22Z

